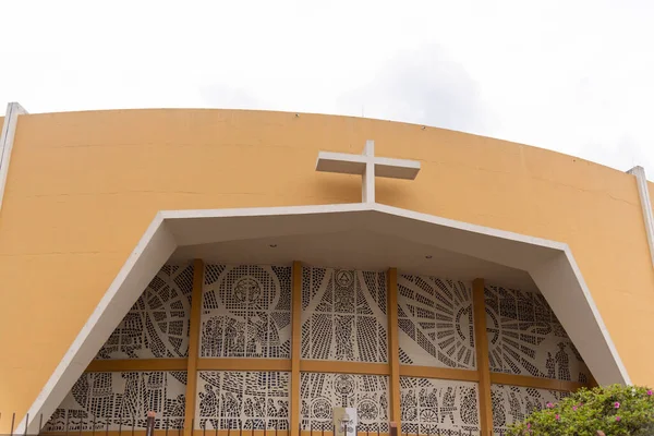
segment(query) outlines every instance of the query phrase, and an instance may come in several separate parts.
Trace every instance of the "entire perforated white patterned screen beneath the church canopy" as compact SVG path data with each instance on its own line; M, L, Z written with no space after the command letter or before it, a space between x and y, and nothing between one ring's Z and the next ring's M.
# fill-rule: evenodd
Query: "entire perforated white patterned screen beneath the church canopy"
M303 431L331 431L334 408L356 408L360 432L388 433L391 378L378 373L389 365L389 352L397 353L400 370L456 368L464 377L476 374L470 282L399 274L399 348L393 351L388 342L391 299L386 271L301 267L296 276L302 281L300 325L293 330L290 266L207 264L203 268L195 428L288 432L291 373L272 368L287 363L291 367L293 331L301 336L301 362L323 365L300 374ZM194 272L198 271L193 265L165 265L96 358L105 365L142 361L145 366L85 373L46 431L63 431L66 425L83 432L143 428L149 410L157 413L157 428L185 427L187 372L147 366L187 360ZM493 372L588 382L588 368L541 294L487 284L484 300ZM228 367L233 362L237 366ZM269 370L238 367L247 362ZM343 373L334 365L338 362L350 364L351 371ZM223 368L204 368L207 365ZM437 373L399 377L401 431L477 434L479 384L438 377ZM493 385L494 427L499 432L562 395Z

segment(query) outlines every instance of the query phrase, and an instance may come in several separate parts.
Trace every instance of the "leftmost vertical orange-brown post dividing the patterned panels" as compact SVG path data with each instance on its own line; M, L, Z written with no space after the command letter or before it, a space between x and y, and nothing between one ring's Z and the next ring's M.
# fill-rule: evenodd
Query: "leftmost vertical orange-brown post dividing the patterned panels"
M191 329L189 331L189 360L186 361L186 407L184 409L184 436L193 434L195 396L197 389L197 361L199 359L199 318L202 315L202 287L204 262L193 261L193 292L191 294Z

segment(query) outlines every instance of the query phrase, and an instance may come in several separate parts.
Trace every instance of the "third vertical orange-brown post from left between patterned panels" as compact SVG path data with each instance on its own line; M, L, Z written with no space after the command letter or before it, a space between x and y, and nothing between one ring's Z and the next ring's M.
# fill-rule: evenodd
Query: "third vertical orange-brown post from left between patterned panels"
M390 366L390 421L401 428L400 346L398 341L398 269L388 269L388 365Z

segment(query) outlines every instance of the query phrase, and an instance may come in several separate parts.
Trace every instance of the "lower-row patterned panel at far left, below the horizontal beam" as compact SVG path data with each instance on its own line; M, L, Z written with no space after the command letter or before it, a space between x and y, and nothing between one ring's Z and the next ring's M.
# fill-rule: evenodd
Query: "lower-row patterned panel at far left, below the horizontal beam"
M157 428L182 428L185 391L182 371L84 373L44 431L143 429L148 411Z

